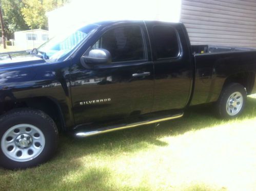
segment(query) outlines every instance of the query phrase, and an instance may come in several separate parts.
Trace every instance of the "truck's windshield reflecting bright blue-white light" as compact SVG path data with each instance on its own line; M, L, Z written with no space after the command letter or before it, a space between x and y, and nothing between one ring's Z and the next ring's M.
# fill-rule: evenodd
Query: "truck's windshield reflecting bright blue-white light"
M57 35L31 53L51 61L62 60L97 27L98 25L87 25L71 33Z

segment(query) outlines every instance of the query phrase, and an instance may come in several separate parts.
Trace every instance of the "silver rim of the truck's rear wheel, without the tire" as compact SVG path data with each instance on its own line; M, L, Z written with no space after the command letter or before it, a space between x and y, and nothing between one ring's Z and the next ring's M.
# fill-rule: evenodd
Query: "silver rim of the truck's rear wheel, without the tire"
M226 110L228 115L237 115L243 106L243 95L240 92L234 92L232 93L228 100L226 105Z

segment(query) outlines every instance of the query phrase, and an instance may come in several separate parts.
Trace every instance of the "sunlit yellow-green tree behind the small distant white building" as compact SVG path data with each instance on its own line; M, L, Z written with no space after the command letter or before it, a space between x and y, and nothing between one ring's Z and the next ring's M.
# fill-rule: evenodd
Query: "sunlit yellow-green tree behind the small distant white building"
M47 29L46 12L63 6L68 0L24 0L21 12L30 29Z

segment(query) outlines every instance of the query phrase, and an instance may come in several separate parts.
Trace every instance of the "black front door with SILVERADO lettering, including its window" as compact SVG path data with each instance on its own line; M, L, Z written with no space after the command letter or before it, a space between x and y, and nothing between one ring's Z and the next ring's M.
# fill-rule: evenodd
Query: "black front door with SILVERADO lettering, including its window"
M113 121L151 111L153 62L148 59L151 56L146 34L142 22L116 24L89 48L108 50L112 57L110 65L88 69L81 62L72 63L76 124Z

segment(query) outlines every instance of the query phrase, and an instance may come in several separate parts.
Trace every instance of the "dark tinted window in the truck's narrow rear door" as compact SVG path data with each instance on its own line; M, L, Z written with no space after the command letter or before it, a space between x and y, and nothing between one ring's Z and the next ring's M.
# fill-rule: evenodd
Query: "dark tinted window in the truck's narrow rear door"
M153 27L156 48L156 59L179 56L179 40L175 29L169 26L156 25Z

